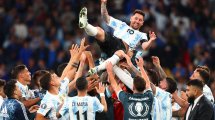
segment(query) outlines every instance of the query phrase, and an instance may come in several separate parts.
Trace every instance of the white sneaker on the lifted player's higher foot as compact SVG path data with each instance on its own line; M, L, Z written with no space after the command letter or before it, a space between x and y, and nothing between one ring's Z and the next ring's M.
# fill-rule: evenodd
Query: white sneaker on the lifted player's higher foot
M87 8L83 7L79 13L79 27L85 28L87 24Z

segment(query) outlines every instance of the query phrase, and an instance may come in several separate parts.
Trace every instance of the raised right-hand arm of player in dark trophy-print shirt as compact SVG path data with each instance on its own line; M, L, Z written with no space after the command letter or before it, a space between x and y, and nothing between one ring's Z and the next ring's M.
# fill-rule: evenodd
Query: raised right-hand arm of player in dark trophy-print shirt
M135 60L136 63L137 63L137 66L139 67L140 69L140 72L141 72L141 75L142 77L144 78L144 80L146 81L146 89L150 89L151 88L151 85L150 85L150 80L149 80L149 77L148 75L146 74L146 71L144 70L143 68L143 58L142 57L139 57L138 60Z

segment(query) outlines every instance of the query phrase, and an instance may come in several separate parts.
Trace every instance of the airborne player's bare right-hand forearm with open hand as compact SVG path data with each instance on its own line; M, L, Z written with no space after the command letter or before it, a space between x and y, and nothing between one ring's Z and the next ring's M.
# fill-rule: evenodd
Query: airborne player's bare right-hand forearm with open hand
M149 41L142 43L143 50L148 50L151 47L153 41L155 41L157 38L155 33L151 31L149 31L149 37L150 37Z

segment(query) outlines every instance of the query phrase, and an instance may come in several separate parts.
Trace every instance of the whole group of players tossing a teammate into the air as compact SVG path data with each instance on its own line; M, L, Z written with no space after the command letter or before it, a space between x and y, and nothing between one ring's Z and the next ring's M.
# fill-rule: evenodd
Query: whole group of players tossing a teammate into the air
M210 79L209 68L197 66L186 90L177 89L176 81L167 77L158 57L151 57L150 66L139 51L134 53L138 45L147 50L156 40L154 32L149 32L149 39L139 32L144 13L134 11L128 26L109 16L106 2L101 0L101 13L114 33L89 24L86 8L80 11L79 27L96 38L108 59L95 66L83 38L80 46L72 45L70 60L58 66L58 75L38 70L31 81L25 65L15 66L12 79L6 84L1 81L5 99L2 98L0 116L38 120L214 119L214 97L206 84ZM86 70L89 71L85 74Z

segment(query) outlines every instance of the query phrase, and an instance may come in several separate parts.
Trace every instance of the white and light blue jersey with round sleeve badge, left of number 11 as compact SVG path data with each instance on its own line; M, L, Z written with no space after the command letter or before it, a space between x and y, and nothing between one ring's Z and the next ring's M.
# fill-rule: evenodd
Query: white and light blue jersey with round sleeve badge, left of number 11
M64 80L61 81L61 86L58 95L53 95L47 91L41 101L40 108L37 111L37 113L42 114L48 119L56 120L57 119L56 113L59 111L60 105L67 97L68 84L69 84L68 78L65 78Z

